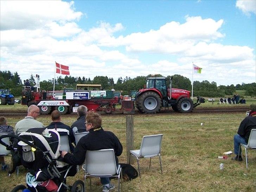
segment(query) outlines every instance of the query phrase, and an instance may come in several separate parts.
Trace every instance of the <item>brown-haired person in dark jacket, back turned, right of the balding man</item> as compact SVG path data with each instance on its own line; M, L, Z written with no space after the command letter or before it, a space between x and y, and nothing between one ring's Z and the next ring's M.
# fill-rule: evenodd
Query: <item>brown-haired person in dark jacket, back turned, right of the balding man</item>
M73 152L74 151L74 146L72 145L72 143L75 141L75 137L73 135L72 129L68 125L60 122L61 116L60 116L60 113L59 113L58 110L52 111L51 119L52 119L52 122L46 128L47 129L55 129L55 130L57 130L57 129L66 129L66 130L68 130L69 131L69 135L68 135L68 137L69 137L69 148L70 148L70 151ZM59 132L60 135L62 135L62 132L60 132L60 131L58 131L58 132Z

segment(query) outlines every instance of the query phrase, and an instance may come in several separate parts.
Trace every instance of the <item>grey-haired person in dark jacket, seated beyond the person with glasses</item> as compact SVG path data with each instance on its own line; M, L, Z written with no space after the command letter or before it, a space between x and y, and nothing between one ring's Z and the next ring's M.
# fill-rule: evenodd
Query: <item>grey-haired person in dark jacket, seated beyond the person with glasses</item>
M81 133L81 132L85 132L86 131L86 127L85 127L85 117L87 114L87 107L85 107L84 105L80 105L77 108L77 115L78 118L77 120L71 125L71 129L75 135L75 133Z

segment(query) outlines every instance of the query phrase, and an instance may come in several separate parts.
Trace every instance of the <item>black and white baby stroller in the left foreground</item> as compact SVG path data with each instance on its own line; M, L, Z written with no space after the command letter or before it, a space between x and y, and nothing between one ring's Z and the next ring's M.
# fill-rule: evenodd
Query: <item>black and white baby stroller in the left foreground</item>
M17 139L17 149L2 141L5 137ZM76 174L76 166L66 164L60 156L60 136L54 129L31 128L17 135L0 136L0 143L7 150L18 153L21 164L28 169L27 187L18 185L12 192L27 188L31 192L84 192L84 183L75 181L72 186L66 185L66 177Z

